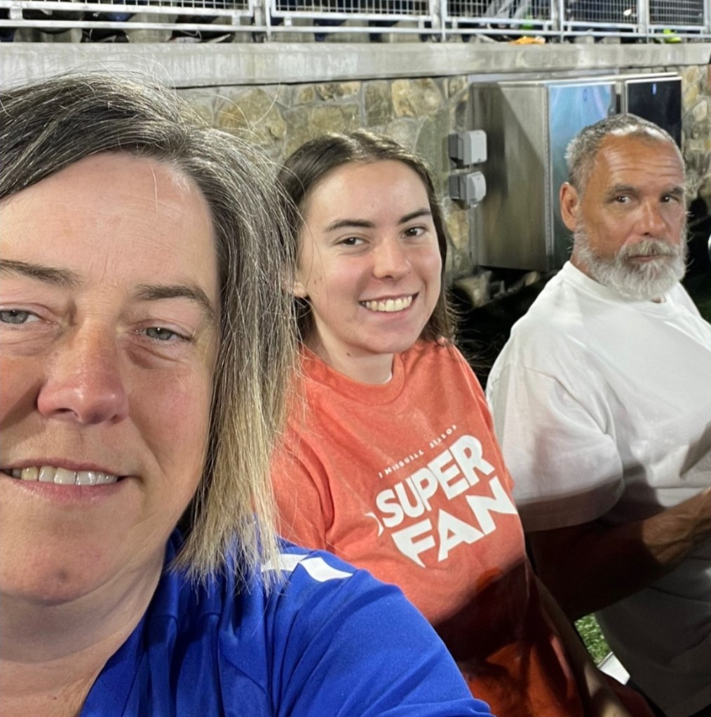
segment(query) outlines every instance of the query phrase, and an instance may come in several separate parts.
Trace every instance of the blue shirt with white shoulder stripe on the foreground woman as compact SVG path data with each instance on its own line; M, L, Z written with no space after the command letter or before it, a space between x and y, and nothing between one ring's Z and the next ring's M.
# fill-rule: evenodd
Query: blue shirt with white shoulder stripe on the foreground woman
M270 594L258 576L166 572L81 717L490 715L397 588L291 544L280 564Z

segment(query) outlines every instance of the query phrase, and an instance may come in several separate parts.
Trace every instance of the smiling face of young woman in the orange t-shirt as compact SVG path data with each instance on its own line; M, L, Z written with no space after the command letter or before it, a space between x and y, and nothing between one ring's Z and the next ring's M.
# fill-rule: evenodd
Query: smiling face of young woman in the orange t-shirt
M400 161L352 162L309 192L296 272L314 331L307 343L359 381L387 381L417 341L441 290L427 189Z

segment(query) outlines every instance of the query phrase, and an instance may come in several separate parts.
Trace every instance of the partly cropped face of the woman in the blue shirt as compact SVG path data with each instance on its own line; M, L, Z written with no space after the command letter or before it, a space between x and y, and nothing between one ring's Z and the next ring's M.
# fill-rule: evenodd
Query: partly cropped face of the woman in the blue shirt
M110 604L154 585L202 473L209 208L171 166L85 158L0 203L0 259L0 593Z

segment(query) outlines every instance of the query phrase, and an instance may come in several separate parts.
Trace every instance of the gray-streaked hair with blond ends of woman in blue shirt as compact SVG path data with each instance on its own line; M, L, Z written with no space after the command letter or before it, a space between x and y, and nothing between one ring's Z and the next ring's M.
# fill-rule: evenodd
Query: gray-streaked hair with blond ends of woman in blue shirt
M281 290L288 228L273 176L254 148L142 80L65 75L0 93L0 201L105 152L174 166L212 214L220 345L204 472L174 566L204 579L229 560L244 574L278 550L269 462L295 355L291 298Z

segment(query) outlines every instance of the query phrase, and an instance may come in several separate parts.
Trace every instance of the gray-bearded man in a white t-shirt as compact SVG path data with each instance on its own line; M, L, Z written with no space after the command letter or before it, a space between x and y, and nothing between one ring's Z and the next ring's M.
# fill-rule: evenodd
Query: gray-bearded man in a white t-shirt
M679 283L684 162L634 115L566 158L573 253L494 364L496 432L569 617L597 613L660 714L711 715L711 326Z

